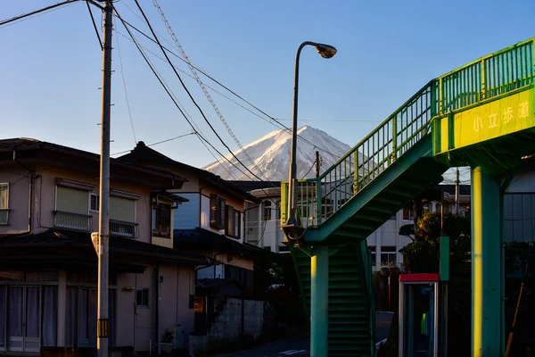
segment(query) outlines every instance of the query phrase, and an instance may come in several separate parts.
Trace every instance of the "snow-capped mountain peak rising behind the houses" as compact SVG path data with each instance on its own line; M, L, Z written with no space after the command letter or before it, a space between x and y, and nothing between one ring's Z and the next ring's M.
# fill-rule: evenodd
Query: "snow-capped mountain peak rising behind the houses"
M297 140L297 177L298 179L314 178L316 174L316 151L321 157L320 172L328 169L343 154L350 151L350 145L342 143L340 140L329 136L325 131L304 126L298 129ZM312 143L313 145L311 145ZM271 181L284 181L288 179L290 152L292 149L292 131L279 129L270 132L264 137L243 146L243 150L249 154L254 161L254 165L249 161L243 150L235 151L235 156L249 170L254 172L259 178ZM233 162L248 175L231 166L226 160L212 162L203 169L220 176L222 179L251 179L251 174L243 169L243 166L236 162L235 158L228 154L226 158ZM258 179L255 179L258 180Z

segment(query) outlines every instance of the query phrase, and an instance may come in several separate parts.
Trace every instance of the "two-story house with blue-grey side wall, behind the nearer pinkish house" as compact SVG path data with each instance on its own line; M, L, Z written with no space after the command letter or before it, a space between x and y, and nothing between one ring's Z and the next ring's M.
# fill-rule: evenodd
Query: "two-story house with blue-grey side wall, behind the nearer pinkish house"
M174 247L213 258L216 264L197 268L198 287L206 288L233 279L250 295L253 267L259 247L244 241L243 212L257 198L217 175L172 160L139 142L121 161L179 173L187 182L169 190L188 201L174 212ZM171 245L169 245L171 246Z

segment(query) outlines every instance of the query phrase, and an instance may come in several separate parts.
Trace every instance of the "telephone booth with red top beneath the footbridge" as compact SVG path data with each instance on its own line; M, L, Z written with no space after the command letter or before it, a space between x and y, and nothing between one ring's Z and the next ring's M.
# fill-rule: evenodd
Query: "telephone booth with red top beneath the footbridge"
M447 284L439 274L399 275L399 357L446 356Z

